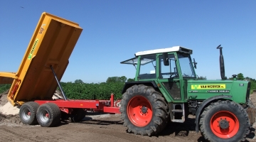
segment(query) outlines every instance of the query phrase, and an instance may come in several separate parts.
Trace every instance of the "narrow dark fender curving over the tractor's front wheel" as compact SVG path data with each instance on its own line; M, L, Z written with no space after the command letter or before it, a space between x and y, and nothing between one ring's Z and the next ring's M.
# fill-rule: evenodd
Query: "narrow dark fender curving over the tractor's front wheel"
M214 97L210 97L206 100L203 101L203 103L200 105L200 107L198 107L197 111L196 111L196 120L195 120L195 123L196 123L196 132L198 133L199 132L199 126L198 126L198 122L199 122L199 119L200 119L200 114L202 113L203 109L207 106L207 104L209 104L210 102L213 102L214 100L218 100L218 99L231 99L232 96L230 95L218 95L218 96L214 96Z

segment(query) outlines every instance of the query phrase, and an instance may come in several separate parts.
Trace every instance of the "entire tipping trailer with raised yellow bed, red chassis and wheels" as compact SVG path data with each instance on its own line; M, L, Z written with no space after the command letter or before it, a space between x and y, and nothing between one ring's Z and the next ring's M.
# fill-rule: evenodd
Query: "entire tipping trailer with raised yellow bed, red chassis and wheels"
M18 72L0 72L0 84L11 83L7 99L21 106L23 124L55 126L60 119L80 121L87 109L120 113L110 100L70 100L60 86L68 59L75 48L82 28L78 23L50 13L42 13ZM52 99L60 87L64 99Z

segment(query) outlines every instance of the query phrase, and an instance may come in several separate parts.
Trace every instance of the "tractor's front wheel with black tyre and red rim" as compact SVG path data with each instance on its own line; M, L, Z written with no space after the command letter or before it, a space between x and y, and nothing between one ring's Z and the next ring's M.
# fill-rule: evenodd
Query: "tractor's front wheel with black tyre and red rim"
M211 103L201 114L201 134L208 141L245 141L250 121L240 104L230 101Z

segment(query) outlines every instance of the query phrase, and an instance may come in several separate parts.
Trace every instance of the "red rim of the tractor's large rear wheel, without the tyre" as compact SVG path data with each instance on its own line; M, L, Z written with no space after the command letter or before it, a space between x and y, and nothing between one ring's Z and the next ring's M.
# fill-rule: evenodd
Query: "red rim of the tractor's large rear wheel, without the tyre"
M127 115L135 126L143 127L149 124L152 114L151 104L145 97L133 97L127 104Z

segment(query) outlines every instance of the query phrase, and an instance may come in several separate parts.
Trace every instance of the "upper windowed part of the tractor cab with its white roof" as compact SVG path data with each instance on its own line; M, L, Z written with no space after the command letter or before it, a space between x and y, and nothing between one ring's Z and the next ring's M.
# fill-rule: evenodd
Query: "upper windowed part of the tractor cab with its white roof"
M196 78L191 54L192 50L175 46L138 52L135 58L121 63L136 67L136 81Z

